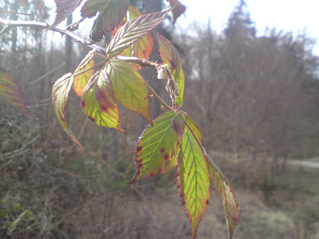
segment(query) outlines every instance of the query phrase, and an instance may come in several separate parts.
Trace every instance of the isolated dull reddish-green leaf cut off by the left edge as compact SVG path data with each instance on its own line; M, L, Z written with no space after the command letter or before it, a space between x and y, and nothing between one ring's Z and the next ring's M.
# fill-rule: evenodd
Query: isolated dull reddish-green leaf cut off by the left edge
M26 103L26 96L13 77L0 67L0 100L17 112L31 117ZM32 118L32 117L31 117Z

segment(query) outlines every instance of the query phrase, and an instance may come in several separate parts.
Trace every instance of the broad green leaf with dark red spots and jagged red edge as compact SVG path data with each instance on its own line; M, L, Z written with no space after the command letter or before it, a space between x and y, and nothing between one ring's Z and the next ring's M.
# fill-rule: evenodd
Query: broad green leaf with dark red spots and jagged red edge
M174 111L157 117L153 126L147 125L135 148L136 173L128 183L166 172L169 163L176 158L183 134L184 118Z

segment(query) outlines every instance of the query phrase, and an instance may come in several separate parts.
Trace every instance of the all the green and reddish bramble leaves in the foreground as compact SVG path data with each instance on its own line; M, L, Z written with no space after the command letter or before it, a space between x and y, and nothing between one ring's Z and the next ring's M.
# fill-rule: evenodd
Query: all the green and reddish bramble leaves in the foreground
M55 2L57 17L50 29L67 18L82 0ZM193 238L196 238L198 225L206 212L211 186L223 205L231 238L240 216L235 194L203 148L201 129L186 112L180 110L184 97L184 73L177 50L169 40L154 31L171 11L174 21L184 12L179 1L169 2L177 6L142 15L129 5L128 0L86 1L81 10L82 16L91 18L97 15L90 34L92 41L99 42L111 33L111 42L103 51L92 47L73 74L67 73L55 82L52 103L63 129L83 151L84 147L67 124L67 98L72 88L82 100L84 113L103 127L124 132L117 102L145 117L150 124L138 139L135 148L137 168L129 184L178 168L178 187L191 221ZM154 40L162 64L147 60ZM95 57L100 57L102 61L96 63ZM167 80L166 88L172 98L172 107L164 103L142 78L140 69L144 66L154 67L158 78ZM167 108L167 112L154 120L150 117L149 91ZM0 69L0 95L9 101L11 107L28 115L22 92L4 69Z

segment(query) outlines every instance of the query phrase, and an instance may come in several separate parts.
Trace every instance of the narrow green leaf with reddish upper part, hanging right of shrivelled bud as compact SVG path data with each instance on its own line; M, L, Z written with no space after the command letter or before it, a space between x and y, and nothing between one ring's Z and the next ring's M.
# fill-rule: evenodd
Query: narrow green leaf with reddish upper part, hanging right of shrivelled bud
M159 53L163 62L169 65L170 71L172 71L173 78L179 86L179 96L176 99L177 106L183 105L184 96L184 72L181 68L181 59L177 49L169 42L165 37L159 33L155 34L159 45Z

